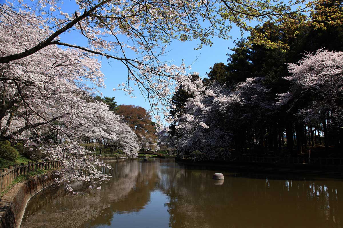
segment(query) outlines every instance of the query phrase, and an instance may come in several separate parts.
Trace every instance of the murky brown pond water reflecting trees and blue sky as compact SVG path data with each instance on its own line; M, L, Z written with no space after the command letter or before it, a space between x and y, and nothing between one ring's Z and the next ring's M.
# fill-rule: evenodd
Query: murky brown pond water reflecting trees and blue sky
M340 179L206 170L173 159L110 164L111 181L100 190L55 187L34 196L21 227L343 226ZM224 181L211 179L218 171Z

